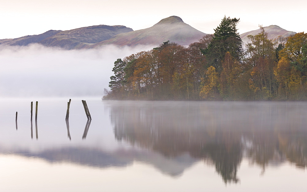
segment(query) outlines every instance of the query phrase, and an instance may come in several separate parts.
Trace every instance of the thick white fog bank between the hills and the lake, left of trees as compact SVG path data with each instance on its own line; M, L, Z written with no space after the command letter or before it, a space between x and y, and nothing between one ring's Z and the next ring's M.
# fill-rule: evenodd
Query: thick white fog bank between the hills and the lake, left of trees
M154 46L64 50L29 46L0 47L0 97L103 96L114 61Z

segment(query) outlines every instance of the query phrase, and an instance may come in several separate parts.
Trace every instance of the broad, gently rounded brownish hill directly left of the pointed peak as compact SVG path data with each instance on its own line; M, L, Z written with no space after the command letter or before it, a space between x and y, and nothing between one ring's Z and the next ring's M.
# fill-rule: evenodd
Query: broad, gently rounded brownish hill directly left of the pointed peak
M65 49L82 48L85 45L94 44L110 39L119 33L133 31L131 28L122 25L94 25L62 31L50 36L39 43L47 47L57 46Z

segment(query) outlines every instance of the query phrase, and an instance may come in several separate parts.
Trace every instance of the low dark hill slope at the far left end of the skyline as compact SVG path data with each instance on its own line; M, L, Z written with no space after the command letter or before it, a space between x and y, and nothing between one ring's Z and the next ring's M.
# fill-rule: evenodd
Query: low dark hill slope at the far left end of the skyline
M38 43L41 40L44 40L50 36L56 35L57 33L60 33L61 30L49 30L45 33L39 34L39 35L27 35L15 39L1 39L0 45L8 46L8 45L20 45L25 46L30 43Z

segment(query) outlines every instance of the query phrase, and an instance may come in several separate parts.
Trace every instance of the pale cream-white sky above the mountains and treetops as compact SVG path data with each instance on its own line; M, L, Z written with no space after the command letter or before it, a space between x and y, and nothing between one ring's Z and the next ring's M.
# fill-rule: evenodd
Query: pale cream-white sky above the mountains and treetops
M307 32L306 7L305 0L0 0L0 39L102 24L138 30L173 15L204 33L224 15L240 18L239 33L258 25Z

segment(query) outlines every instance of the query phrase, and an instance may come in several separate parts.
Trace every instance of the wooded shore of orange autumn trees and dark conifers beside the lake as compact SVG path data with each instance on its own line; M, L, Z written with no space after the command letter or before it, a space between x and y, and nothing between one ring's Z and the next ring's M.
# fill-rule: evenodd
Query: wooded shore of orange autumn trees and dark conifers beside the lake
M306 100L307 33L270 40L264 28L243 48L239 19L224 17L188 47L163 42L114 62L104 99Z

